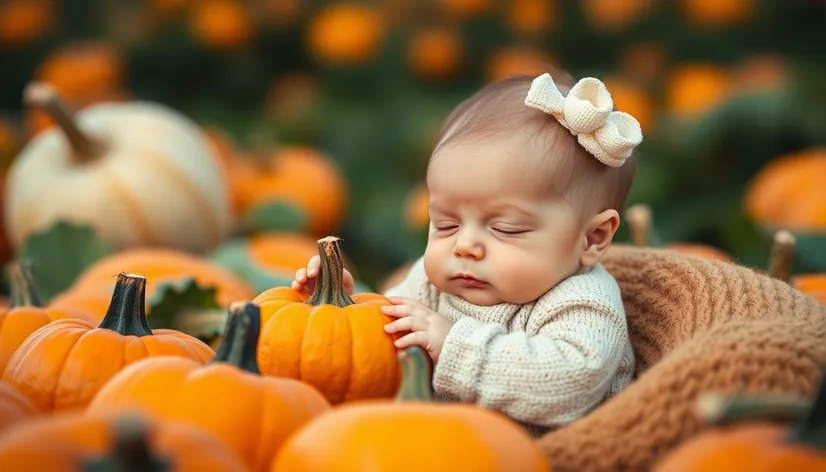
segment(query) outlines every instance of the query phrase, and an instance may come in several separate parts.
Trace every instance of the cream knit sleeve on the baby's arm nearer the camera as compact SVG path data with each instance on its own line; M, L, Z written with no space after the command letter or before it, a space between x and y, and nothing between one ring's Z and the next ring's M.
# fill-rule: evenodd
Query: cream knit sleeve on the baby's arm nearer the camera
M582 417L608 394L628 343L621 308L584 298L537 313L533 334L459 319L435 366L434 390L543 427Z

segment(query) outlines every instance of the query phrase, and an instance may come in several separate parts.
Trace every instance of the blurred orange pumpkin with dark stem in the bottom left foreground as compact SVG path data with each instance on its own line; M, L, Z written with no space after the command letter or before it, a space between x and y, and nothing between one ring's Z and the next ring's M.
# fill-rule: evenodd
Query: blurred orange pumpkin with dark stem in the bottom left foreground
M226 446L190 425L149 417L62 414L0 436L3 472L246 472Z

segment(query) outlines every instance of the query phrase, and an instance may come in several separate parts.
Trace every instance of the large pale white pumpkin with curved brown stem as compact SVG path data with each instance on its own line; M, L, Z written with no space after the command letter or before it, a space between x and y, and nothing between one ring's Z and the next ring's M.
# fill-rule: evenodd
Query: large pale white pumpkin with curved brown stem
M201 128L151 102L100 103L72 113L48 84L28 106L58 123L12 162L5 226L18 247L58 220L89 224L119 248L204 252L231 227L227 177Z

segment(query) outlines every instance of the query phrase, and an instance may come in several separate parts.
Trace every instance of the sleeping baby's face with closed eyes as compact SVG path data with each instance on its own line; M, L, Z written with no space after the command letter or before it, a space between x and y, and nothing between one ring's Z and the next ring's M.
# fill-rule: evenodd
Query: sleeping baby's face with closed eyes
M433 156L424 263L440 291L476 305L522 304L579 269L584 223L542 191L542 163L526 152L524 139L502 136Z

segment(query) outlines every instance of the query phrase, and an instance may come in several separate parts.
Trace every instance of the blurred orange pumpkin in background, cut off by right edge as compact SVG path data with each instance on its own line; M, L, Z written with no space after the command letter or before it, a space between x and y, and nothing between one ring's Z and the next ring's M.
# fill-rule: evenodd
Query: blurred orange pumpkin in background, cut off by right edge
M790 231L826 232L826 147L771 160L745 189L746 214L758 224Z

